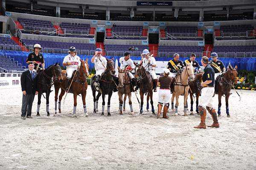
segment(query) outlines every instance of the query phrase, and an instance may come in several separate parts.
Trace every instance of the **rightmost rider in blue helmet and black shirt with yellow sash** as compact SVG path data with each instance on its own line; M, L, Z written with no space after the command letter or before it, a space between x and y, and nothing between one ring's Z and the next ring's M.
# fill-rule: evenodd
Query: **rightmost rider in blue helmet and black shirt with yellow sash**
M216 52L212 52L211 54L212 61L210 62L214 72L215 72L215 79L218 75L221 75L223 72L226 71L226 68L222 61L218 60L218 55Z

